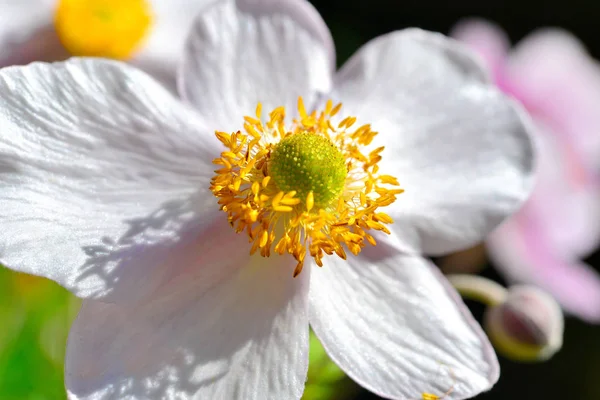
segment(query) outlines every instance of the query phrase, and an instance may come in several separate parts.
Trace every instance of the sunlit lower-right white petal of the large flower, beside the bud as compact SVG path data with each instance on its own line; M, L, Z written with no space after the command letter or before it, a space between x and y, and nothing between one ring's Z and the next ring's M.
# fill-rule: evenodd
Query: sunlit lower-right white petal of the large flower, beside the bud
M431 263L391 243L312 271L310 323L328 354L385 398L489 389L499 368L477 322Z

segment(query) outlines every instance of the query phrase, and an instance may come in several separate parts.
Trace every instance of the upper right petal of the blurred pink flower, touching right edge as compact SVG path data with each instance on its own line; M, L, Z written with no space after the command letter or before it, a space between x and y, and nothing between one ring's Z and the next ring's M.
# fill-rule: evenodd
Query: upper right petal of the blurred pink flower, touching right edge
M508 75L514 94L600 168L600 68L566 31L537 31L516 47Z

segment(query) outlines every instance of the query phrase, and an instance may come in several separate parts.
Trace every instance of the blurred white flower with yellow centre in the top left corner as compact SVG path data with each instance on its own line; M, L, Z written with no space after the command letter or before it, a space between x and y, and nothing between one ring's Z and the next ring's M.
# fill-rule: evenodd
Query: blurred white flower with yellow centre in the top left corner
M208 2L0 1L0 66L100 56L128 60L174 85L188 30Z

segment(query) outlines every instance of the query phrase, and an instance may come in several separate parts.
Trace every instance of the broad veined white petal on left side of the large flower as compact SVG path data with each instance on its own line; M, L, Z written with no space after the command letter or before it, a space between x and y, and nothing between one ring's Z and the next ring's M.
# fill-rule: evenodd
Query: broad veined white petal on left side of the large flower
M202 121L111 61L8 67L0 92L0 262L82 297L151 289L216 210Z

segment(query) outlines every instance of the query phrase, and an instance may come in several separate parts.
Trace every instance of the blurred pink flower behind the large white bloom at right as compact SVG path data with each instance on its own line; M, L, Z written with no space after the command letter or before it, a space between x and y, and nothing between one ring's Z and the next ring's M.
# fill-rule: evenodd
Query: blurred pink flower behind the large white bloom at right
M600 242L600 69L562 30L535 32L510 53L506 34L485 21L465 21L452 36L483 56L537 128L533 194L489 236L490 257L507 279L538 285L567 312L600 322L600 277L580 261Z

